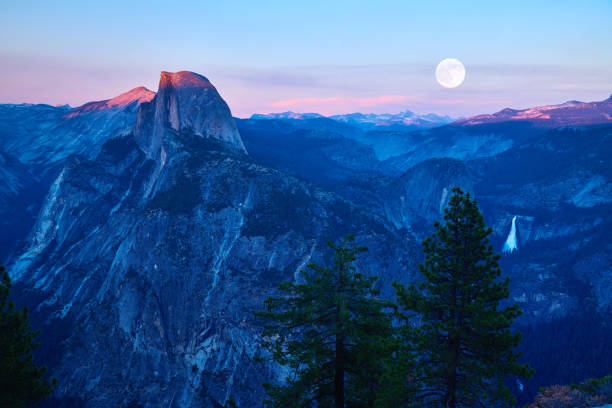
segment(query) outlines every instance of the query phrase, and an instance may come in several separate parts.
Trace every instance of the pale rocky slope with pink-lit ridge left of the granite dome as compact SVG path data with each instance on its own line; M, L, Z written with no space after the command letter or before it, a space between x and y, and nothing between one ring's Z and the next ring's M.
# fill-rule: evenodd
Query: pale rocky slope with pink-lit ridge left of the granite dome
M23 249L45 195L66 160L95 157L110 138L131 132L138 107L155 95L144 87L77 108L0 105L0 259Z

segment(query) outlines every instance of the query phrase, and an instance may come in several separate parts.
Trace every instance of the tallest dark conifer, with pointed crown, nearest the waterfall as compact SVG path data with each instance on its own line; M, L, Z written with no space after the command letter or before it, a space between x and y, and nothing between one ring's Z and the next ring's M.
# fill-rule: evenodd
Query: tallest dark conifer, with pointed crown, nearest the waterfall
M514 405L504 380L529 377L532 370L519 364L514 351L521 335L512 323L521 311L500 305L509 296L509 279L500 279L499 255L488 239L492 230L476 201L459 188L453 189L444 220L423 242L424 282L395 284L400 305L420 318L408 339L418 356L417 404Z

